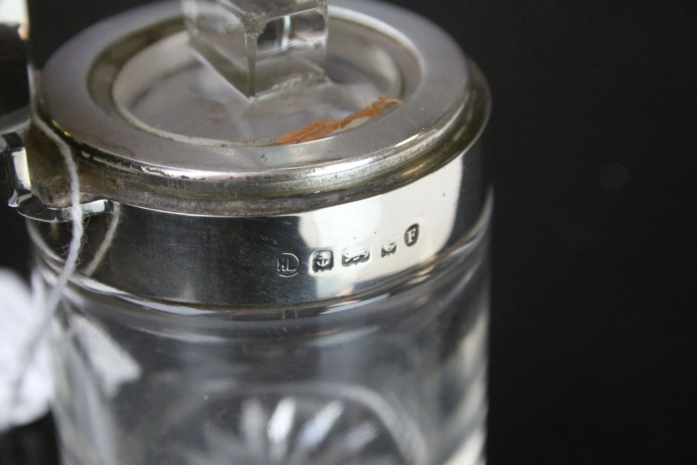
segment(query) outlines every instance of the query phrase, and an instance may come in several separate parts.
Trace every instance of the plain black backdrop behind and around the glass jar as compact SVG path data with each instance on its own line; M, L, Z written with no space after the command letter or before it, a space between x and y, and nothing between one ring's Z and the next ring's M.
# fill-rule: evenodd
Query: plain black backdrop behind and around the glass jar
M30 3L40 62L142 2ZM493 91L489 463L697 462L697 2L394 3ZM0 206L0 227L26 273L22 221ZM0 464L54 463L50 425L3 436Z

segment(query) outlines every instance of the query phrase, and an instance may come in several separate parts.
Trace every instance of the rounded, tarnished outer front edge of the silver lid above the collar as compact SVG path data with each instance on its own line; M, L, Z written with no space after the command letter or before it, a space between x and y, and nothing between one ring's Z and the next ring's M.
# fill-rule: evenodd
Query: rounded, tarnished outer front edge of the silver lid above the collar
M470 66L473 70L473 97L468 100L469 105L461 112L461 119L458 119L447 138L440 139L437 146L431 147L420 157L407 160L404 166L363 183L339 186L320 193L289 190L283 183L275 185L276 195L268 190L268 184L256 192L240 191L234 189L238 185L235 182L206 180L197 183L146 174L135 167L118 167L114 162L105 164L99 160L105 154L94 148L77 146L77 150L82 149L84 155L80 160L81 183L85 190L92 192L95 189L91 180L99 178L98 187L102 192L101 195L93 195L94 198L106 198L155 211L212 217L290 215L382 195L429 176L457 158L481 156L476 147L480 145L489 119L491 98L484 76L474 63L470 63ZM91 153L86 153L86 150ZM148 190L142 188L143 176L151 180ZM250 182L250 186L253 185Z

